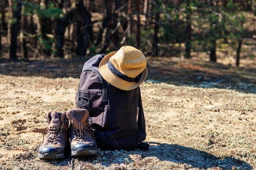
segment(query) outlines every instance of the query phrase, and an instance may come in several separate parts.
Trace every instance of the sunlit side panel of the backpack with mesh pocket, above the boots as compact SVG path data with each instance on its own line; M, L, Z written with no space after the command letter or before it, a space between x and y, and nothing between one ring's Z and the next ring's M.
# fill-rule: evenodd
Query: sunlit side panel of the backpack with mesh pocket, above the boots
M76 93L76 107L86 108L92 118L94 128L106 127L108 100L105 82L95 69L85 69L80 75L79 89Z

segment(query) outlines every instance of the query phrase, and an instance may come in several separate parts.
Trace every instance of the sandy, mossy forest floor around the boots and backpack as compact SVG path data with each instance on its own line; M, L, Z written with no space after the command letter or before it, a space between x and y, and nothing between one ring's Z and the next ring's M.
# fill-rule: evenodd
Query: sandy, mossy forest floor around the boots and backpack
M147 57L141 84L149 150L40 160L45 115L75 108L86 58L0 63L0 169L256 169L256 60Z

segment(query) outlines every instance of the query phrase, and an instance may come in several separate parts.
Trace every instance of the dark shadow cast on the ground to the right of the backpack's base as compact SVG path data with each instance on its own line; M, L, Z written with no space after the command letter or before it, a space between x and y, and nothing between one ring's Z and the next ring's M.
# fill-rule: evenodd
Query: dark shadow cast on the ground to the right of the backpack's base
M207 152L196 150L190 147L169 144L157 144L157 146L150 146L151 150L155 150L156 156L161 161L171 161L175 163L185 163L193 168L224 168L234 169L232 167L243 167L243 169L250 170L252 166L234 157L217 158Z

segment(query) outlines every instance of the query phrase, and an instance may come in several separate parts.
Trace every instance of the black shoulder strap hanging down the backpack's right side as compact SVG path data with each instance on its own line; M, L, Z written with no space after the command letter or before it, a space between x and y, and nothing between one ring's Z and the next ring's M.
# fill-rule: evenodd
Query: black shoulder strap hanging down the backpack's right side
M137 124L138 124L138 128L139 128L139 132L144 133L146 136L146 124L145 124L145 117L144 117L144 111L143 111L143 107L142 107L142 102L141 102L141 94L140 94L140 88L139 89L139 96L138 96L138 107L139 107L139 111L138 111L138 120L137 120ZM145 139L144 139L145 140ZM139 149L144 149L144 150L148 150L149 148L149 144L145 143L145 142L139 142L138 146Z

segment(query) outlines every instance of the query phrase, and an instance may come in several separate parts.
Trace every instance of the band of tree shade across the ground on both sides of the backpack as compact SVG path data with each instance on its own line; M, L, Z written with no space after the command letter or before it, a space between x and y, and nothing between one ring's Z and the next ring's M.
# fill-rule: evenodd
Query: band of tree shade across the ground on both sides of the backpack
M48 78L79 78L89 57L71 60L18 61L0 63L0 74L14 76L43 76ZM203 60L177 57L148 57L146 82L165 82L179 86L228 88L256 93L256 68L234 67Z

